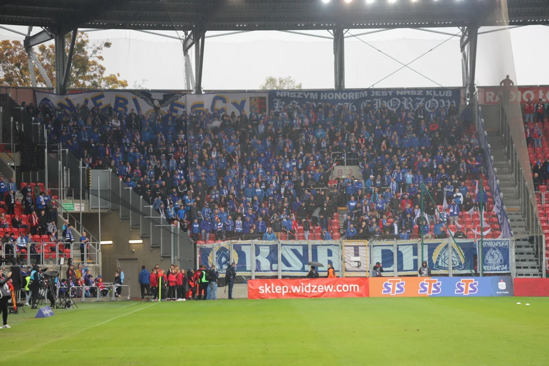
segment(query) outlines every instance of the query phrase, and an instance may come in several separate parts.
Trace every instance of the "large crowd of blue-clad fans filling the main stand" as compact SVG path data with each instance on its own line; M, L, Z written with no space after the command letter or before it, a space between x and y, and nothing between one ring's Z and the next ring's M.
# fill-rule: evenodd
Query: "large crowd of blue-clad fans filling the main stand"
M420 227L444 235L445 224L467 224L463 213L481 202L490 209L489 193L475 184L484 152L468 106L461 114L453 105L351 111L330 103L241 115L27 110L48 141L87 167L110 167L197 242L410 238ZM332 178L343 164L359 165L361 175ZM425 199L424 215L423 187L434 201ZM338 207L347 207L343 227Z

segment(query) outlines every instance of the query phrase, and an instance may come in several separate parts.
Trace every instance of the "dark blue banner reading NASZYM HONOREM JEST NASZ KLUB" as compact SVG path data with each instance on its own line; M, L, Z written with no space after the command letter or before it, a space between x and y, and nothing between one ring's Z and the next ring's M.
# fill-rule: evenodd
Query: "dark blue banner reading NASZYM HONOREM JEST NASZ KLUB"
M368 112L377 110L384 104L390 110L416 110L419 104L430 110L458 107L461 100L461 89L357 89L346 91L271 91L269 92L269 108L282 111L287 106L303 106L312 104L319 106L347 106L350 111Z

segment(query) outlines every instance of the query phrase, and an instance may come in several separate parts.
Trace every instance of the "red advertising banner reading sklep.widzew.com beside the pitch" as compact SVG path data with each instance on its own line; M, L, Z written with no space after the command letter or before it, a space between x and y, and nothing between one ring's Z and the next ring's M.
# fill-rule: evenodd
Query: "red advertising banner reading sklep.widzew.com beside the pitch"
M368 278L248 280L248 299L368 297Z

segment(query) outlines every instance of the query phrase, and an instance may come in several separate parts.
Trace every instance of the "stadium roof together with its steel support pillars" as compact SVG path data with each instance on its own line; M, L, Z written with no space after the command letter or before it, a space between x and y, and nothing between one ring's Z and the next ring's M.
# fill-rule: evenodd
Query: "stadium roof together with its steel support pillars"
M43 76L32 47L55 40L55 89L60 94L66 92L76 33L82 28L182 31L187 89L200 93L206 31L329 30L332 37L324 38L334 42L334 88L344 89L347 30L460 27L463 86L472 94L479 27L548 25L549 4L547 0L3 0L0 24L29 26L24 42L29 63L34 62ZM42 31L31 35L32 26ZM193 46L194 72L188 54ZM35 82L32 74L31 78ZM48 84L47 76L44 79Z

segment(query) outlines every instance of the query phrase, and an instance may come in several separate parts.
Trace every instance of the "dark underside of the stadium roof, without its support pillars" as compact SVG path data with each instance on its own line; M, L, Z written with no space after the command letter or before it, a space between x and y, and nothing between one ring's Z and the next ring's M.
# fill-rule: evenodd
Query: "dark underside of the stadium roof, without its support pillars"
M498 25L495 8L507 7L509 25L549 24L546 0L3 0L0 24L48 27L192 31L312 30ZM501 24L500 24L501 25Z

